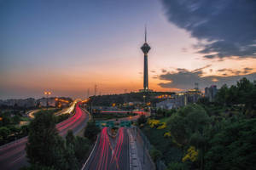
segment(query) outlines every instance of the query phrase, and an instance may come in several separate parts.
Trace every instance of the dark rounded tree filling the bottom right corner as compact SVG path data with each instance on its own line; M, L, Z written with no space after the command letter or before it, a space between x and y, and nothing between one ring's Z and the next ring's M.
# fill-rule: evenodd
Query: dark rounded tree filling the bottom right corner
M227 124L210 140L206 169L255 169L255 141L255 118Z

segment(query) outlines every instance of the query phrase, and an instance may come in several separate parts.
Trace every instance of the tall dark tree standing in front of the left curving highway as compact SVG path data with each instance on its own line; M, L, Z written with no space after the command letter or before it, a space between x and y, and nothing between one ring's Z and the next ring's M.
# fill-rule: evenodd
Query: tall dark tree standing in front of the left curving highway
M59 167L63 159L64 141L55 128L55 116L37 114L29 125L26 156L32 164Z

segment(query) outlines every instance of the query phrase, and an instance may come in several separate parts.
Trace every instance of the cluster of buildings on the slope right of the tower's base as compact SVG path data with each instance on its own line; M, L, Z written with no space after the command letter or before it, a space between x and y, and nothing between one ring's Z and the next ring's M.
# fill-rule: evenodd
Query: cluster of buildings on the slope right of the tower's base
M156 104L156 107L161 109L179 108L185 105L194 104L201 97L202 94L199 89L189 89L187 92L172 95L172 99L168 96L168 99Z

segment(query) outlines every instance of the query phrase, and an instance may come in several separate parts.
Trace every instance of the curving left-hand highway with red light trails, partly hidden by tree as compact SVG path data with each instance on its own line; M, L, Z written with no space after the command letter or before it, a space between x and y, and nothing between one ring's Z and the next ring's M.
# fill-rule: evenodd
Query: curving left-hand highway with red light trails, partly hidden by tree
M73 130L73 133L79 133L79 131L85 127L89 120L89 115L86 114L80 107L79 103L75 106L75 114L67 120L60 122L56 125L61 136L65 136L69 129ZM26 142L27 137L18 139L15 142L4 144L0 147L0 169L1 170L16 170L25 165L28 165L26 161Z

